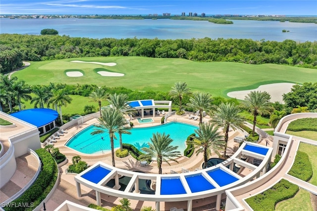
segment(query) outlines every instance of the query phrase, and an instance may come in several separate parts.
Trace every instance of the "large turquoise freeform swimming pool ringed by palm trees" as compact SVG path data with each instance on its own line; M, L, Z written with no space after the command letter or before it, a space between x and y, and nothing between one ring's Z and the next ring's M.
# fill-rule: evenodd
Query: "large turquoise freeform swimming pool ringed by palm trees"
M75 136L73 136L67 143L66 146L77 150L81 153L94 154L101 153L101 151L109 151L110 148L110 138L109 134L105 131L103 134L91 135L90 133L94 131L95 126L90 126ZM142 147L148 147L148 142L150 138L153 137L153 133L159 132L169 134L173 139L172 145L178 146L178 151L183 153L185 150L186 138L194 133L195 129L198 127L184 124L184 123L168 123L165 125L155 126L155 127L143 127L143 128L132 128L130 130L131 134L122 134L122 142L127 144L132 144L136 148L141 149ZM103 139L102 139L103 137ZM114 140L114 148L119 147L119 135L116 134L117 140Z

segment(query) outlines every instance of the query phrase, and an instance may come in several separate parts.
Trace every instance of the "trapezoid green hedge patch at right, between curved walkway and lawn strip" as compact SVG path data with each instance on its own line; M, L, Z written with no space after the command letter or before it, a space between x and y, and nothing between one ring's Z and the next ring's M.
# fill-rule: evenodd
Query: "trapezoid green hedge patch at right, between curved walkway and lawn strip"
M294 164L288 174L306 182L312 178L313 167L305 152L297 151Z

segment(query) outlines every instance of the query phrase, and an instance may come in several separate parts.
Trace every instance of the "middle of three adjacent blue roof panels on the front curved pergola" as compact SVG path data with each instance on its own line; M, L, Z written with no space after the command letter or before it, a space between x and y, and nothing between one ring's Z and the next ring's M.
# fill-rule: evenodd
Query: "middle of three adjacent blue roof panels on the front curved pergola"
M192 193L214 188L214 186L202 174L187 176L186 181Z

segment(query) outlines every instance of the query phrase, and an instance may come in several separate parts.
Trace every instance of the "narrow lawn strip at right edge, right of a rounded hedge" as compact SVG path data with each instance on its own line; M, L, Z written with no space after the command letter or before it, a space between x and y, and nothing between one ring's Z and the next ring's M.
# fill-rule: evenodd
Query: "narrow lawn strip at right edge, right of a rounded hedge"
M309 160L313 167L313 176L308 182L317 186L317 146L301 143L298 150L308 154Z

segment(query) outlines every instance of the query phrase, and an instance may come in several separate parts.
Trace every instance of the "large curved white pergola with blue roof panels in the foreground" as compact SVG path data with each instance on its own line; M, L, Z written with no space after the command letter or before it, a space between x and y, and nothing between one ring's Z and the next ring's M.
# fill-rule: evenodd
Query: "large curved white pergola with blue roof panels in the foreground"
M207 169L201 169L193 172L187 173L178 173L178 174L148 174L148 173L141 173L141 172L134 172L124 169L118 169L115 167L111 167L106 165L102 162L98 162L89 169L81 172L80 174L75 176L76 181L76 188L78 197L81 197L81 188L80 185L83 184L89 188L92 188L96 191L96 200L97 205L101 206L101 194L104 193L111 196L127 198L132 200L139 200L139 201L154 201L156 202L156 210L160 210L159 202L179 202L179 201L187 201L187 210L192 210L192 202L193 200L208 198L211 196L216 196L216 210L220 209L221 204L221 194L225 193L225 190L240 186L245 184L255 177L258 178L260 175L263 175L266 172L266 169L271 160L272 148L265 147L259 144L251 143L251 142L244 142L238 151L231 156L226 161L213 166ZM259 166L250 164L241 160L241 155L250 156L256 159L262 160ZM234 164L240 165L241 167L245 167L251 169L252 172L246 175L245 177L239 176L237 173L233 172ZM229 166L229 168L227 168ZM95 178L97 176L94 171L96 169L103 169L104 175L98 174L100 178ZM219 178L216 176L212 176L212 172L224 174L228 176L228 178L235 178L228 184L220 184ZM96 171L97 172L97 171ZM87 179L87 176L90 174L91 179ZM131 177L130 182L128 183L127 187L124 190L119 190L119 175ZM200 176L200 178L204 177L213 186L213 188L205 189L202 191L193 191L193 185L195 183L189 183L188 178ZM115 181L115 185L113 188L105 186L106 183L113 179ZM139 191L139 179L149 179L155 180L156 190L155 194L141 194ZM173 194L166 194L162 190L162 180L164 179L175 179L181 181L181 186L184 189L184 193L173 193ZM91 181L96 180L96 181ZM134 187L134 192L132 189ZM168 187L173 190L173 187Z

